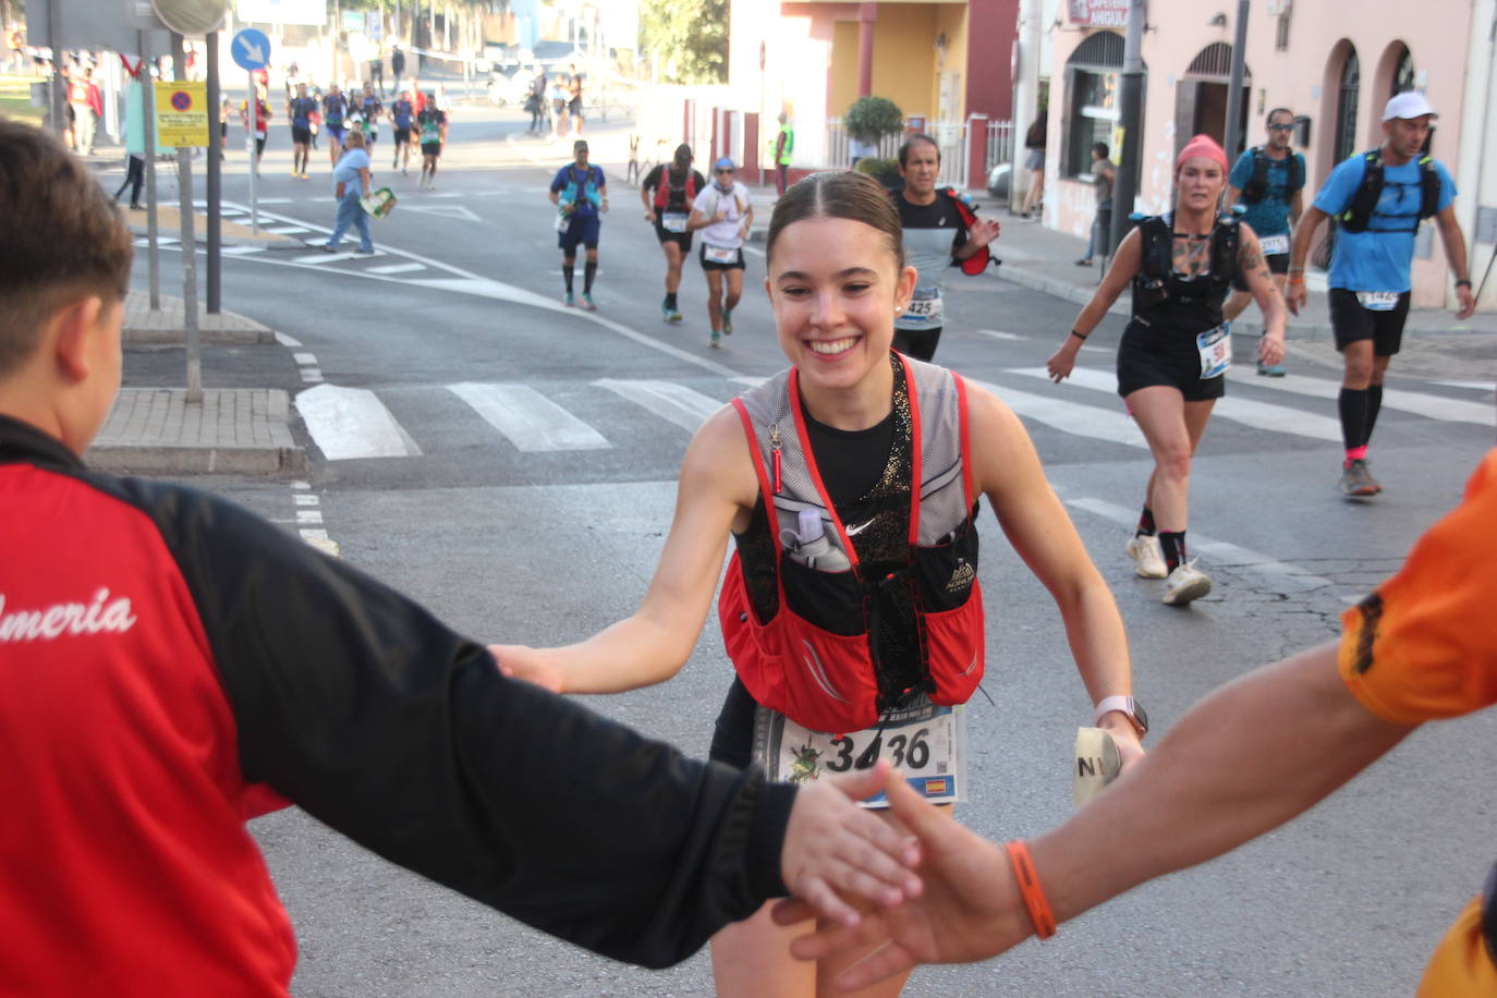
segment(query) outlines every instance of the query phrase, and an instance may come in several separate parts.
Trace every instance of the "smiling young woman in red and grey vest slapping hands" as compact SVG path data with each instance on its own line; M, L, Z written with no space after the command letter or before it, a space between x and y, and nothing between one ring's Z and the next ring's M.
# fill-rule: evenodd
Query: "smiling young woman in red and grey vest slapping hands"
M692 440L675 519L638 612L566 648L497 646L507 675L560 693L669 679L707 619L731 534L737 554L719 616L738 678L713 759L756 762L757 723L760 732L778 729L781 748L813 771L838 769L838 751L852 745L858 763L849 753L843 766L871 763L885 733L892 753L901 717L931 702L961 703L981 678L973 518L987 495L1060 607L1076 667L1102 708L1097 723L1124 765L1142 756L1123 621L1024 426L993 395L891 350L894 317L916 278L901 245L898 212L871 177L814 174L778 200L765 289L793 367L723 407ZM922 483L918 497L912 482ZM807 732L840 735L831 745L820 736L817 760L796 753L813 744ZM901 742L907 772L927 762L918 739ZM864 759L870 742L874 753ZM777 762L772 750L769 757ZM719 994L829 994L835 973L862 953L801 964L787 947L805 931L775 926L766 907L719 932ZM868 994L901 986L903 977Z

